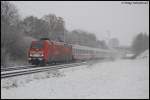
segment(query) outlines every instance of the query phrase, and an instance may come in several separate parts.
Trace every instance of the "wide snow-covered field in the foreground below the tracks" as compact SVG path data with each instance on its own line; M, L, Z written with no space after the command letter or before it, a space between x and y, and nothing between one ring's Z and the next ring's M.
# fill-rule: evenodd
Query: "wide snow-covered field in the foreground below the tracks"
M149 98L149 60L146 58L91 63L54 72L54 77L42 77L41 73L31 80L31 75L20 76L18 79L27 78L29 82L16 87L5 88L2 84L1 98Z

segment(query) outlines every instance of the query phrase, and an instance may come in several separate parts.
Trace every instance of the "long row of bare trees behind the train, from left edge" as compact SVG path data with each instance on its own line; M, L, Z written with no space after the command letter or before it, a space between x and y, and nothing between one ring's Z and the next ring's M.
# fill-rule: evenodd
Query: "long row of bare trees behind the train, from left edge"
M15 5L1 1L1 65L10 61L27 61L31 41L45 37L70 44L107 48L105 41L98 40L93 33L80 29L68 31L62 17L47 14L42 18L27 16L21 19Z

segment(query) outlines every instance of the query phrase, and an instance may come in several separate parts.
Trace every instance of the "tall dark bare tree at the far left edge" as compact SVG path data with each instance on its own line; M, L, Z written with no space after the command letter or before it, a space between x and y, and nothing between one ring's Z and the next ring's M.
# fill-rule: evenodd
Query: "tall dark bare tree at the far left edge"
M23 34L21 34L20 19L16 7L7 2L1 2L1 61L2 65L8 60L22 59L26 55ZM24 44L24 45L22 45ZM18 52L19 51L19 52Z

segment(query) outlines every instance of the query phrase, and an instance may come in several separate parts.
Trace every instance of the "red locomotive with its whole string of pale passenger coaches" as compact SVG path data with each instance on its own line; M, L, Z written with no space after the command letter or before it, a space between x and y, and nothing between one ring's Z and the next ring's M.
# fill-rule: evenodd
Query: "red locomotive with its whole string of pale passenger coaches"
M112 50L56 42L45 38L32 41L28 50L28 62L32 65L114 58L114 56Z

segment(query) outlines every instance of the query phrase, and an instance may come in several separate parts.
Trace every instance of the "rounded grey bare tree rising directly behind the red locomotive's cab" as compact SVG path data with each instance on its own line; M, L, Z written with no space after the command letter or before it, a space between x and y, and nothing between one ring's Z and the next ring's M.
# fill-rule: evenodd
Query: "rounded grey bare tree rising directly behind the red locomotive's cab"
M29 16L24 19L23 30L26 35L37 39L48 37L50 31L46 21L34 16Z

